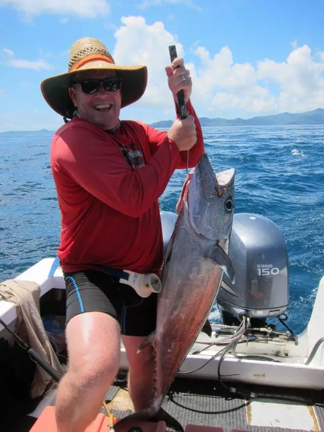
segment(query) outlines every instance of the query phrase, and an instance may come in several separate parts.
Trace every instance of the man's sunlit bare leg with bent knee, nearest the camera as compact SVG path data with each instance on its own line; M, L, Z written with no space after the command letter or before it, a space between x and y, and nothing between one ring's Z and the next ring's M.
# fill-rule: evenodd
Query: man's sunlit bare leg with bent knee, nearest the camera
M85 312L66 326L68 370L56 398L58 432L84 432L100 411L119 367L120 331L103 312Z

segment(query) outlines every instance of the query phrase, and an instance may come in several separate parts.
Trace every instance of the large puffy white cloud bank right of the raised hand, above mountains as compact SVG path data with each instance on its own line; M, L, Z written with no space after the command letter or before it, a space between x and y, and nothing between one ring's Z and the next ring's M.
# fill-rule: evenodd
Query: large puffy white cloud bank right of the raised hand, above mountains
M308 46L294 49L285 62L265 59L256 68L250 63L234 63L228 47L214 58L203 47L198 47L195 54L201 66L190 65L192 93L203 103L212 91L214 109L272 113L324 106L324 62L315 61ZM271 94L271 84L278 85L278 95Z

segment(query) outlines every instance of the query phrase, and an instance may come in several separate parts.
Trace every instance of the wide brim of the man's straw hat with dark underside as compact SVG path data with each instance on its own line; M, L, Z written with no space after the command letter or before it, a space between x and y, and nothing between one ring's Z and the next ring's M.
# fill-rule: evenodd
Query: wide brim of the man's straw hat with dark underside
M107 64L104 61L89 62L77 70L46 78L41 83L44 99L54 111L67 119L71 119L75 106L69 95L72 75L93 69L116 70L121 81L121 108L140 99L147 85L146 66L120 66Z

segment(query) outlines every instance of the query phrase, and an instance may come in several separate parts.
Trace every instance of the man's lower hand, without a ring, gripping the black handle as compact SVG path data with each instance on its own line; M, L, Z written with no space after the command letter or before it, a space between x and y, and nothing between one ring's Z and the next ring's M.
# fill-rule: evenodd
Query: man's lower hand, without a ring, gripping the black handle
M189 150L197 141L194 117L188 115L184 120L176 120L171 126L168 137L178 146L180 151Z

